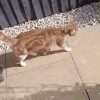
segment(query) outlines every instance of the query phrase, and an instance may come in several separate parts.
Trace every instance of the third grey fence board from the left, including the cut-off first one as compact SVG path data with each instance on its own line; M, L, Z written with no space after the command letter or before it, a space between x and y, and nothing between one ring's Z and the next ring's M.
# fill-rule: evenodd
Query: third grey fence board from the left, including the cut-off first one
M18 1L17 0L10 0L10 1L11 1L11 4L13 6L13 9L15 11L15 14L17 16L19 23L25 22L25 18L23 17L23 15L21 13Z

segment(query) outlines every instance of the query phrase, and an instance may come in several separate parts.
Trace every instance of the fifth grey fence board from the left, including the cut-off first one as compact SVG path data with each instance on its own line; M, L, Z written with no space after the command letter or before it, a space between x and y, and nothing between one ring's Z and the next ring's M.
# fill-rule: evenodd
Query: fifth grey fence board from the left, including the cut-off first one
M32 3L33 3L33 7L34 7L34 10L35 10L36 17L37 18L43 17L43 13L42 13L42 10L41 10L39 0L32 0Z

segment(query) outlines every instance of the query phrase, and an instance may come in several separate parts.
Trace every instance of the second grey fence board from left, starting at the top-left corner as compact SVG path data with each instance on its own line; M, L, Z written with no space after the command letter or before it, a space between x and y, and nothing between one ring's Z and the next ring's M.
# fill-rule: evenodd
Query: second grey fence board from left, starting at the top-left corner
M2 6L3 6L3 8L4 8L5 12L6 12L6 15L7 15L11 25L17 24L17 22L16 22L16 20L14 18L14 15L13 15L11 9L10 9L10 6L8 4L8 0L1 0L1 4L2 4Z

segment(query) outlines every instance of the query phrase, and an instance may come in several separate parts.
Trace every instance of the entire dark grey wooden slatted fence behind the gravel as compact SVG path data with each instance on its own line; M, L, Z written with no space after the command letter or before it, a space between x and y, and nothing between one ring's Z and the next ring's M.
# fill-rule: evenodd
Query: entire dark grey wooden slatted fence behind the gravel
M13 26L95 1L100 0L0 0L0 26Z

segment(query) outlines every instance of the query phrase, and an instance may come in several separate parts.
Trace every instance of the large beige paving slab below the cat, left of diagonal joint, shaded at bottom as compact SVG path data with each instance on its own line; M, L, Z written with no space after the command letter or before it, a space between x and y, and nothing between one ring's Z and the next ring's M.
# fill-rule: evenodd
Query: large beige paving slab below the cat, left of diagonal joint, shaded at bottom
M88 100L69 53L51 52L27 65L7 69L7 100Z

